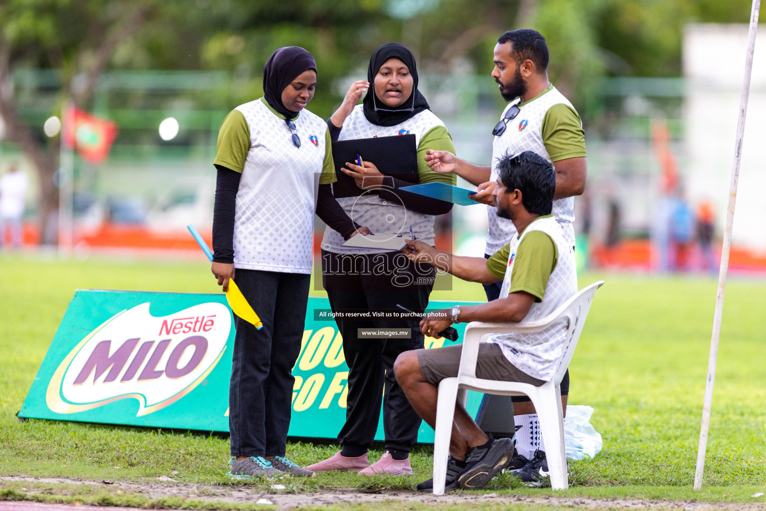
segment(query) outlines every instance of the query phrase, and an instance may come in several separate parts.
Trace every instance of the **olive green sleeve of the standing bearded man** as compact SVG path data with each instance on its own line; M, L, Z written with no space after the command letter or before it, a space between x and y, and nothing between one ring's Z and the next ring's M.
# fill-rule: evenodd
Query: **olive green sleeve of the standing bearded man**
M574 108L558 103L545 112L542 143L552 162L585 156L585 132Z

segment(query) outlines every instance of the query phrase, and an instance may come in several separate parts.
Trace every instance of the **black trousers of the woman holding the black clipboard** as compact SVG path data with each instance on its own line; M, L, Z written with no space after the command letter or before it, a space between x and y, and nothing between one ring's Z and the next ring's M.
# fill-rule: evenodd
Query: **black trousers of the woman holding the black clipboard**
M400 304L423 312L434 287L434 267L414 264L401 252L334 254L322 251L322 280L332 310L393 310ZM372 447L381 402L387 449L411 450L421 418L394 377L398 355L424 347L420 319L336 319L349 365L342 445ZM359 339L361 328L409 328L408 339Z

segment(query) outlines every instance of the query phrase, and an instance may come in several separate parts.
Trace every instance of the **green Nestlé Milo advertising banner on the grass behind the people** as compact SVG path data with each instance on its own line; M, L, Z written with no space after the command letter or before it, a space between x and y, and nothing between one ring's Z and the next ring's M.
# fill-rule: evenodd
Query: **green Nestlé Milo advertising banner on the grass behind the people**
M342 338L334 320L314 313L329 309L326 299L309 298L293 368L293 437L334 438L345 421ZM465 325L456 328L462 339ZM425 344L445 342L451 344L427 337ZM228 431L233 346L234 318L223 294L77 290L18 417ZM470 393L473 416L480 401ZM383 439L382 424L376 439ZM425 423L418 441L434 441Z

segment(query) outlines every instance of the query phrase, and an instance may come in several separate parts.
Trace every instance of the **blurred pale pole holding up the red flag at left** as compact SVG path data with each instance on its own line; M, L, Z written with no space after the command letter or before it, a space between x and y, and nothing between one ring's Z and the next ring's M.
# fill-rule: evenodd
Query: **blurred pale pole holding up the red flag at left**
M68 257L74 247L74 211L72 200L74 198L74 147L68 147L64 142L64 133L70 120L69 101L65 101L61 108L61 146L59 148L58 163L58 254ZM77 140L77 133L73 133ZM77 143L77 142L75 142Z

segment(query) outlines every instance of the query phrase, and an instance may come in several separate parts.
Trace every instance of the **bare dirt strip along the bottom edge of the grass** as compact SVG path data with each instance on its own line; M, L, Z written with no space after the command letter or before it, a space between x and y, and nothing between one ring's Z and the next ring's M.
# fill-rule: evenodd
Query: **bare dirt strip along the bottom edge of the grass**
M496 493L447 493L434 496L430 493L418 493L405 490L383 490L379 492L356 489L319 490L314 493L282 493L280 490L264 491L250 486L209 486L171 482L119 482L105 485L101 481L71 480L54 477L0 477L2 481L15 481L44 484L83 484L108 487L110 492L122 490L124 493L142 493L151 499L163 497L182 497L189 500L221 501L228 503L257 503L265 499L273 504L277 511L288 511L299 506L334 506L338 504L374 503L397 501L401 503L439 504L487 504L487 503L529 503L544 506L569 506L608 509L683 509L684 511L728 511L746 509L766 511L764 503L706 503L694 500L643 500L643 499L595 499L584 496L520 496ZM763 498L766 498L764 496Z

